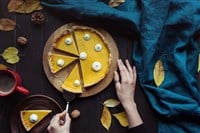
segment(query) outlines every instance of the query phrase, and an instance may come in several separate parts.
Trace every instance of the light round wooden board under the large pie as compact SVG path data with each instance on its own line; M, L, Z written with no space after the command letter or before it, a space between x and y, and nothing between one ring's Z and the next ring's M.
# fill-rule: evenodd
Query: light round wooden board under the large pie
M55 38L57 38L62 33L66 32L67 30L69 30L69 31L72 30L73 26L82 26L82 25L69 23L69 24L59 27L49 37L49 39L47 40L47 42L45 44L44 51L43 51L43 67L44 67L45 74L46 74L48 80L50 81L50 83L57 90L59 90L61 92L62 92L61 85L62 85L63 81L66 79L66 77L69 75L70 71L72 70L74 63L72 63L68 67L62 69L62 71L60 71L56 74L53 74L53 73L51 73L50 67L48 64L48 53L49 52L59 53L59 51L55 51L53 48L53 42L55 41ZM87 27L87 26L83 26L83 27ZM95 84L91 87L87 87L83 93L79 94L79 97L88 97L88 96L92 96L92 95L95 95L95 94L103 91L110 84L110 82L113 79L113 73L115 70L117 70L117 59L119 58L119 53L118 53L118 48L116 46L115 41L112 39L112 37L109 35L109 33L106 32L105 30L97 29L97 28L95 28L95 30L100 32L104 36L104 38L107 42L106 43L107 47L110 50L110 53L112 55L111 65L109 68L109 72L107 73L105 78L103 80L101 80L98 84ZM65 53L65 54L67 54L67 53Z

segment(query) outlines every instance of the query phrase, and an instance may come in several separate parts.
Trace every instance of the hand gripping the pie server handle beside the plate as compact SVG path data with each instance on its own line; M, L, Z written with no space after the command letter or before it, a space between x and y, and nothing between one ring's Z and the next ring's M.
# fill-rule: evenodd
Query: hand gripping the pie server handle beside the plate
M51 119L47 130L49 133L70 133L70 124L71 118L66 110L64 110Z

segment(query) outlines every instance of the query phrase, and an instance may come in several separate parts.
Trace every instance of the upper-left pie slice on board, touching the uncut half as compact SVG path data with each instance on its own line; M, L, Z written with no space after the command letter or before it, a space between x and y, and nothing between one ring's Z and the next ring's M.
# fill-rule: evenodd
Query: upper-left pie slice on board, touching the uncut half
M70 32L64 35L62 34L59 38L57 38L53 47L57 50L79 56L73 35Z

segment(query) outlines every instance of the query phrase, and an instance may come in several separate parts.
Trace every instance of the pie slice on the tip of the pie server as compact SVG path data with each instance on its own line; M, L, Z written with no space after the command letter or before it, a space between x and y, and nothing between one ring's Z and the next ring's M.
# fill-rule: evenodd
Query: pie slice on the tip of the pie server
M64 90L72 93L82 93L81 86L81 76L79 72L79 66L76 64L72 69L71 73L65 79L64 83L61 86Z

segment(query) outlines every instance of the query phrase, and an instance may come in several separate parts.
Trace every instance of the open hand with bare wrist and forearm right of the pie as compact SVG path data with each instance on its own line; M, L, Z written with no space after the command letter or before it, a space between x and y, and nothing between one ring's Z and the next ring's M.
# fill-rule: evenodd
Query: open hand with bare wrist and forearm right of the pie
M129 128L136 127L143 124L134 100L137 79L136 69L131 67L128 60L125 61L126 66L121 60L118 60L117 63L120 73L120 77L116 71L114 73L117 96L126 111ZM120 78L121 82L119 81Z

